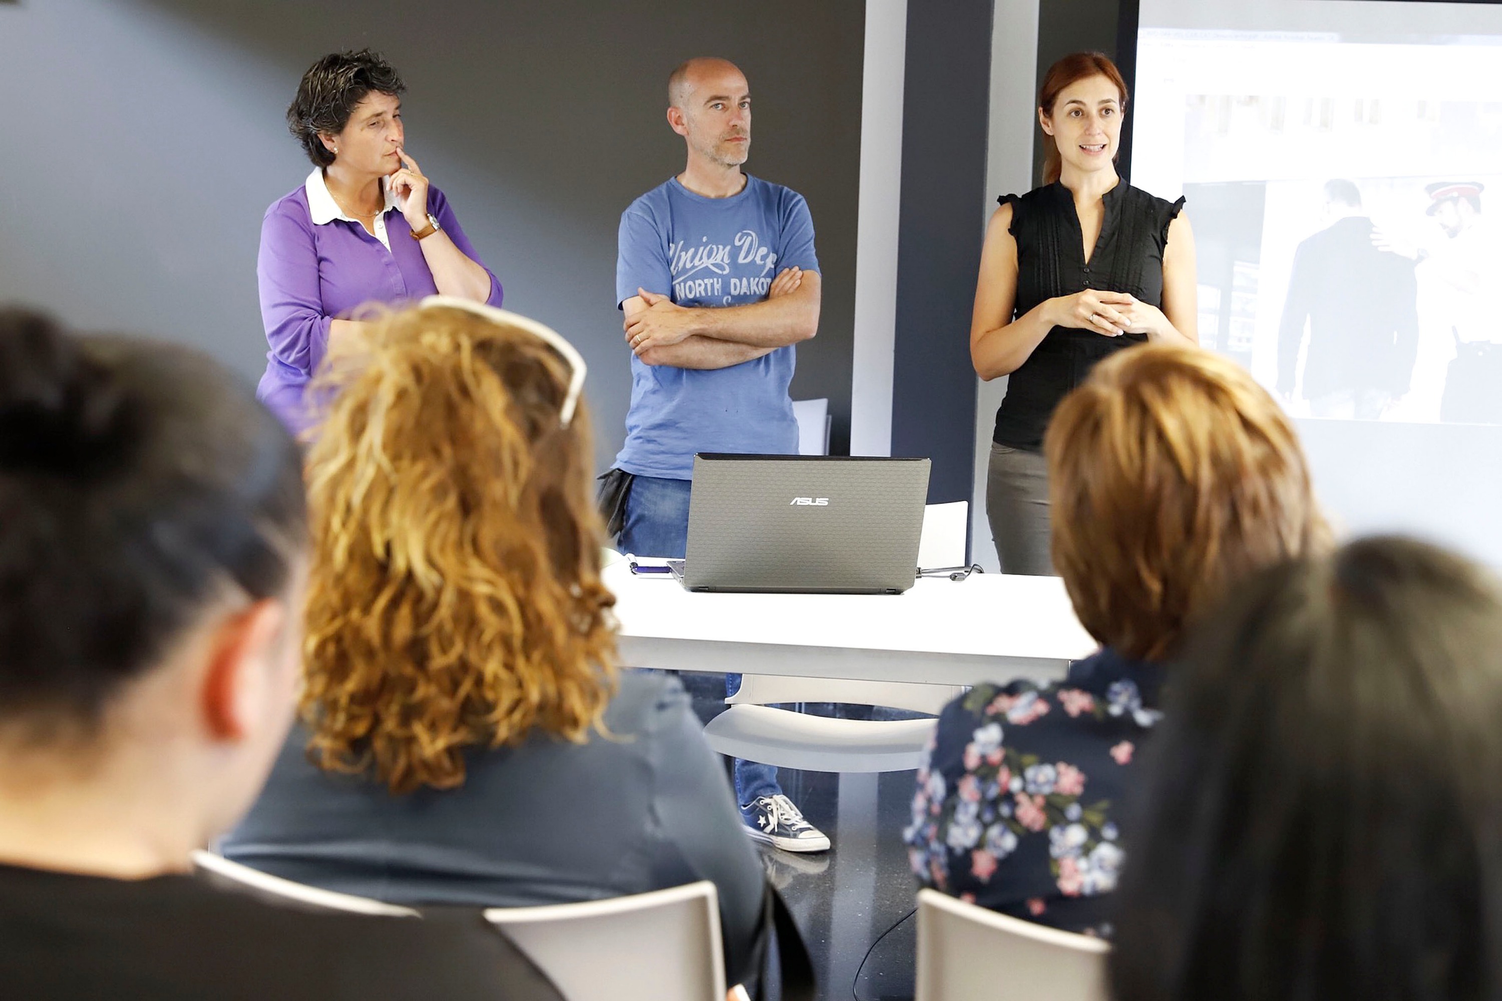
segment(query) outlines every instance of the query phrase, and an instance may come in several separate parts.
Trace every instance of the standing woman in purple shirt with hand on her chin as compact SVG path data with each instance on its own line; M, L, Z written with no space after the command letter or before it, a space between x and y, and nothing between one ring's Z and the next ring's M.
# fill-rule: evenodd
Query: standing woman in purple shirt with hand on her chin
M365 303L442 293L500 305L443 192L403 147L407 86L376 53L333 53L308 69L287 125L314 170L266 210L255 276L266 324L257 396L291 431L312 417L303 395L330 338Z

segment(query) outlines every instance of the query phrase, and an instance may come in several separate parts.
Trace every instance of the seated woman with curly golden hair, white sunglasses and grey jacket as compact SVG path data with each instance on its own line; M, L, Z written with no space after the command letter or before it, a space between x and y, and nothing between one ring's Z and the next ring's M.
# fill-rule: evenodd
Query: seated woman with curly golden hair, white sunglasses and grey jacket
M712 879L734 981L765 876L677 680L616 671L581 383L554 332L463 300L335 345L302 723L224 851L397 903Z

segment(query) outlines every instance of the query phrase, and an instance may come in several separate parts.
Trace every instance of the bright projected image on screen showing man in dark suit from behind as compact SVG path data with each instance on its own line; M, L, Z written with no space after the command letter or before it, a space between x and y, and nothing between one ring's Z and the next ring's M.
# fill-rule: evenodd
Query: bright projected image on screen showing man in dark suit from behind
M1200 341L1299 417L1502 425L1502 8L1140 18L1131 177L1188 198Z

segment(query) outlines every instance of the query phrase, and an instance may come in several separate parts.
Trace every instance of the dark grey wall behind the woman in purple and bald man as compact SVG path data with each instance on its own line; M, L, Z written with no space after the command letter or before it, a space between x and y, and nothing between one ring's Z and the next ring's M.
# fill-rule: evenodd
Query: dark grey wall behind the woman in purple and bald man
M622 438L629 369L616 225L683 167L664 119L682 59L751 80L746 168L801 191L823 267L795 398L849 441L864 3L24 0L0 5L0 302L197 344L264 366L255 249L311 168L282 114L302 71L371 45L401 69L407 141L452 198L506 305L590 366L596 456Z

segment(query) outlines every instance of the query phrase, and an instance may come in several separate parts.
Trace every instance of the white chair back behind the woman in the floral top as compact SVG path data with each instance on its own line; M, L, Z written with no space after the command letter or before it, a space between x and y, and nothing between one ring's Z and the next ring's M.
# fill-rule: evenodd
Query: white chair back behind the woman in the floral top
M1110 1001L1098 938L918 891L916 1001Z

